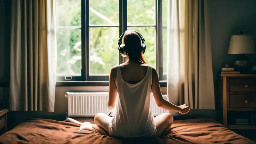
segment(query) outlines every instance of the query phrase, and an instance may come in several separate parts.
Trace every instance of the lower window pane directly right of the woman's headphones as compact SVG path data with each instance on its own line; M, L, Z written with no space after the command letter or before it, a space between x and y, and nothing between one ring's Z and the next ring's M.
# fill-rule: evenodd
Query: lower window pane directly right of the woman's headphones
M135 30L141 33L145 39L146 51L143 54L143 57L146 61L146 64L152 65L155 67L155 27L154 26L141 26L141 27L128 27L128 30Z

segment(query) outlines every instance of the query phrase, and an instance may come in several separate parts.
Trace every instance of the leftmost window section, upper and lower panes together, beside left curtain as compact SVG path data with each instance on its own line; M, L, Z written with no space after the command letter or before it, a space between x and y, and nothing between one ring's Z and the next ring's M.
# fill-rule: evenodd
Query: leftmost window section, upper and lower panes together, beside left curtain
M82 1L56 0L55 5L58 80L78 80L83 74Z

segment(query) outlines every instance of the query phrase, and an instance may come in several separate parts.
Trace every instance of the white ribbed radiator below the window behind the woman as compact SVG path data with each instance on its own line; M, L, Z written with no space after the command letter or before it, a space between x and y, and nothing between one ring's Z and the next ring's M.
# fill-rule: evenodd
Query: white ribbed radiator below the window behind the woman
M108 111L107 101L109 93L69 93L65 95L67 97L68 116L69 117L94 117L97 113L106 113ZM163 95L163 98L167 100L167 95ZM167 112L158 107L155 103L153 94L151 93L150 108L153 116L157 116L161 113Z

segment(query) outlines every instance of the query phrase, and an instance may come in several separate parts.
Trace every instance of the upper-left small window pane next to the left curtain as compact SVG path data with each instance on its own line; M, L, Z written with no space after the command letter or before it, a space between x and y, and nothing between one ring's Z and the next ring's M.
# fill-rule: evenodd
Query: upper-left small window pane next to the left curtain
M56 0L56 25L81 26L81 0Z

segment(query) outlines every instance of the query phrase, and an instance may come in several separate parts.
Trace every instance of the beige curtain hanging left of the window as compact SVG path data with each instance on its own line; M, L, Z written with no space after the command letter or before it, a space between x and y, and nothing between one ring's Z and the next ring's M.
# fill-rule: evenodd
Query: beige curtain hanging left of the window
M11 111L54 111L54 0L11 1Z

